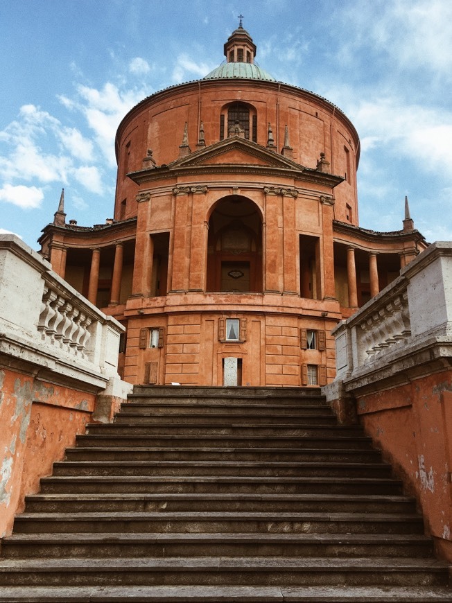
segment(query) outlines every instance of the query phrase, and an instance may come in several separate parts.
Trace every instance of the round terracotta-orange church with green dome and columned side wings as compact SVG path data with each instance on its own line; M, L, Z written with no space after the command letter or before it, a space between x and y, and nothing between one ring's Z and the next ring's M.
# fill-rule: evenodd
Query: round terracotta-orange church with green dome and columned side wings
M325 385L331 329L426 247L358 226L354 125L277 82L242 26L205 78L159 91L116 134L114 219L40 238L53 270L127 329L130 383Z

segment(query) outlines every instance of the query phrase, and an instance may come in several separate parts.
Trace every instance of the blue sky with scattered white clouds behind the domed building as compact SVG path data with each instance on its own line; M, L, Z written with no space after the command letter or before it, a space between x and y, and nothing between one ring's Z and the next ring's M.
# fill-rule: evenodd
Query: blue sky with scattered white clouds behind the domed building
M114 136L139 100L207 75L238 26L274 78L324 96L361 141L360 226L452 240L451 0L0 0L0 233L38 249L112 218Z

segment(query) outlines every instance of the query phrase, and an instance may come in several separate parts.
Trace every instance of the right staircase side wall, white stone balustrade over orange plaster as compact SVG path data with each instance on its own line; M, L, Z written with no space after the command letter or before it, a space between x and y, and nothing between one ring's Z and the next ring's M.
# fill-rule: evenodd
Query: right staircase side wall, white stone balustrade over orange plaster
M435 243L333 331L340 421L359 421L452 561L452 243Z

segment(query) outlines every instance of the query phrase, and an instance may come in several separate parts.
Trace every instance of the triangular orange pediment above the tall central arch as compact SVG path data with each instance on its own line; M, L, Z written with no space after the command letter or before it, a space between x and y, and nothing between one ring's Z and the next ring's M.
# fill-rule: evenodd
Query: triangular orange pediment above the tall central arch
M181 157L168 168L252 165L302 171L304 168L278 152L241 137L230 137Z

